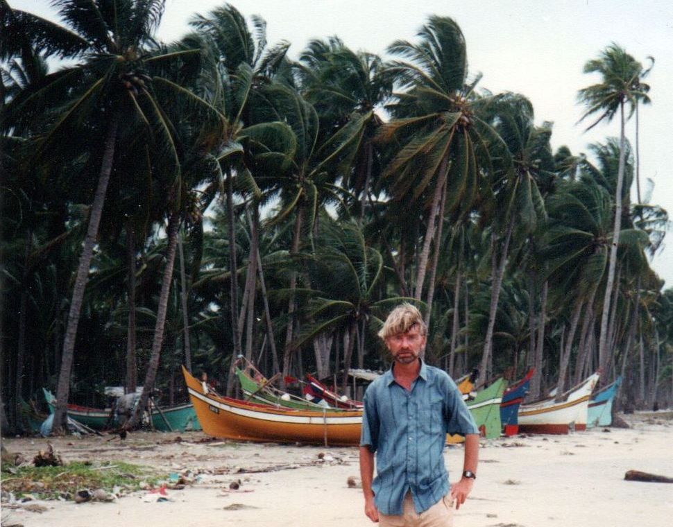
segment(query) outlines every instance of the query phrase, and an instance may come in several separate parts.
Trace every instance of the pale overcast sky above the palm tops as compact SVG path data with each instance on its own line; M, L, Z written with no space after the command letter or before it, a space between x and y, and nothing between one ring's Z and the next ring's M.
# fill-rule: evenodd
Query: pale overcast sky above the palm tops
M12 7L48 15L49 0L9 0ZM198 11L221 5L217 0L167 0L159 30L162 40L176 40ZM640 112L640 175L643 189L654 182L651 203L673 216L673 1L667 0L241 0L230 2L244 15L261 15L269 44L292 43L296 56L313 38L338 35L352 49L384 54L396 39L413 40L427 15L455 19L466 37L470 73L481 72L481 87L491 92L519 92L533 103L536 122L554 122L552 146L573 153L619 135L618 119L583 133L576 123L582 108L577 90L599 78L582 73L611 42L637 60L656 63L647 82L652 104ZM627 128L634 140L634 122ZM634 185L635 187L635 185ZM646 193L646 192L644 192ZM635 189L633 190L635 198ZM673 230L652 265L673 285Z

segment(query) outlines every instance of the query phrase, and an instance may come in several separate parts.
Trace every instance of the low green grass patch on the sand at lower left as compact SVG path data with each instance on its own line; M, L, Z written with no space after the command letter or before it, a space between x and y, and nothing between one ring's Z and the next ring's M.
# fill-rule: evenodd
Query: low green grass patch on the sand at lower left
M19 467L16 474L1 474L2 490L20 497L33 494L40 499L71 499L75 492L87 488L111 492L119 487L122 492L139 490L141 483L157 485L166 474L149 467L123 463L91 463L73 461L62 467Z

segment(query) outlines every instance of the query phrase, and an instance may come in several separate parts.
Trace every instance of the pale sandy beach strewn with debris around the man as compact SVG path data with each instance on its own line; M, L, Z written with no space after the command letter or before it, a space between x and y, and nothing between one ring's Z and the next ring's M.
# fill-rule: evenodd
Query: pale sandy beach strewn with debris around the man
M457 511L455 526L669 526L673 485L624 481L629 469L673 477L673 414L625 416L631 429L592 429L565 436L536 435L482 442L478 479ZM179 437L178 437L179 436ZM165 472L200 474L169 501L148 503L147 491L112 503L40 501L44 512L3 507L3 525L24 527L135 526L367 526L356 448L305 447L205 440L203 433L133 433L108 438L56 438L65 461L123 460ZM3 441L32 458L38 438ZM320 456L322 454L322 456ZM452 481L461 446L445 458ZM230 483L240 481L237 490Z

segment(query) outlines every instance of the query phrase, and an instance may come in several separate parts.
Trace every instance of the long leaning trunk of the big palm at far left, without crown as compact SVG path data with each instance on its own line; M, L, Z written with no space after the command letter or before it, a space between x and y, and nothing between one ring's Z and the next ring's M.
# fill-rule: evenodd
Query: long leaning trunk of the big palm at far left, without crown
M110 182L110 173L112 173L112 162L114 161L114 146L117 142L117 130L119 128L119 117L112 116L108 132L105 137L105 149L103 150L103 162L101 172L99 173L98 185L94 194L94 202L89 214L89 225L84 239L82 254L80 255L75 284L72 291L72 300L68 313L68 324L65 330L63 340L63 349L61 352L61 366L58 374L58 385L56 388L56 411L52 433L65 433L66 430L66 409L68 397L70 394L70 377L72 374L72 363L75 351L75 338L77 336L77 326L79 325L80 313L84 301L84 290L89 278L89 268L94 254L94 245L98 237L101 216L103 215L103 205L105 204L105 194L108 192L108 182Z

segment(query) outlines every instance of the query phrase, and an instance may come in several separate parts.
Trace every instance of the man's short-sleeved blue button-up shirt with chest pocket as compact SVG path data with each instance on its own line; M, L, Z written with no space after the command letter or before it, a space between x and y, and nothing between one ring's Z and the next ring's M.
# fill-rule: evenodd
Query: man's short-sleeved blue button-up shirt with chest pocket
M420 365L407 391L388 370L364 395L360 446L376 453L374 503L401 515L407 491L420 514L449 492L443 450L447 433L479 433L456 383L443 370Z

